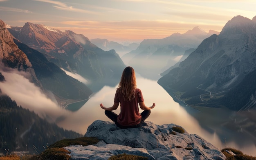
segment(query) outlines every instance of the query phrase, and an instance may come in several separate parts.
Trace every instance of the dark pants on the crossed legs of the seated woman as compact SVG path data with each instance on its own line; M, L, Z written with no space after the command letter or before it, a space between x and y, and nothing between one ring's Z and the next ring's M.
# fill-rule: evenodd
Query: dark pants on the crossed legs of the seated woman
M113 122L115 122L115 124L119 127L119 128L137 128L140 127L144 121L146 120L146 118L148 118L148 116L150 115L151 111L150 110L144 110L143 112L141 112L141 121L139 124L137 125L132 125L132 126L122 126L117 122L117 114L115 114L115 112L112 111L107 111L105 110L105 114L106 116L108 116L108 118L110 118Z

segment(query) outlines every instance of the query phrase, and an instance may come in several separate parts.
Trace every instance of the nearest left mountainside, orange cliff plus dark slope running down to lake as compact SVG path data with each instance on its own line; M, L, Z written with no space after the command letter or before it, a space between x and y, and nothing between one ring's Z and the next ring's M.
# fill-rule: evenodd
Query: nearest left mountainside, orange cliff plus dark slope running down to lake
M64 107L68 102L88 99L92 91L83 83L66 75L58 66L49 62L42 53L22 44L9 33L4 22L0 21L0 70L8 68L25 71L25 78L37 85L45 94L51 92L58 104ZM22 75L22 72L18 72ZM23 74L24 75L24 74ZM9 95L11 96L11 95Z

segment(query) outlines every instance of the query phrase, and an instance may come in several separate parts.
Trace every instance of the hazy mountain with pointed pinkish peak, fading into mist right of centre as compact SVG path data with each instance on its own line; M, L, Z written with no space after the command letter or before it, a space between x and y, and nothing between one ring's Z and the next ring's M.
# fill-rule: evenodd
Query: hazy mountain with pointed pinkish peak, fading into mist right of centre
M159 74L176 64L186 50L197 48L213 32L218 33L207 33L197 26L184 34L174 33L163 39L145 39L136 50L127 53L122 59L144 77L158 79Z

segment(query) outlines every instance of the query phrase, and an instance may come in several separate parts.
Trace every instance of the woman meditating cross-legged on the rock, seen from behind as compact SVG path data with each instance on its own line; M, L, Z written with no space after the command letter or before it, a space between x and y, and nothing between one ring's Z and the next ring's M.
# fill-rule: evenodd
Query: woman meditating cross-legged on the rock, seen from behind
M112 112L121 106L119 115ZM136 85L135 71L132 67L126 67L119 82L114 104L112 107L105 107L102 103L100 107L105 110L106 116L110 118L120 128L140 127L150 115L150 110L155 107L147 107L144 103L142 92ZM139 107L143 112L139 113Z

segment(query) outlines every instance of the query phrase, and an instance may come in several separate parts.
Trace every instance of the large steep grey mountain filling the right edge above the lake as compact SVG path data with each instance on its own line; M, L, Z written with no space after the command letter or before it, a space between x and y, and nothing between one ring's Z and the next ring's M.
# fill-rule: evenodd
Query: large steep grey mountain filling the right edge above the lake
M256 107L255 76L256 18L238 15L158 83L191 105L247 110Z

